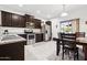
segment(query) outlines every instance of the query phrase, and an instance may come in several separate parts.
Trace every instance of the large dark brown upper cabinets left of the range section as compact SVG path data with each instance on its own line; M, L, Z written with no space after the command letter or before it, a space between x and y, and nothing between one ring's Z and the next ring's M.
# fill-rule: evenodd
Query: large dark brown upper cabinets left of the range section
M25 19L23 15L1 11L2 26L24 28Z

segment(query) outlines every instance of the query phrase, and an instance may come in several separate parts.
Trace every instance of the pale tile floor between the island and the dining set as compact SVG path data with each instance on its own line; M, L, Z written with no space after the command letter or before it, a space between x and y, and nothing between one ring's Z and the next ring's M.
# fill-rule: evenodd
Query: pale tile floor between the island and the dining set
M79 47L79 61L84 61L83 47ZM25 61L62 61L62 50L59 55L56 56L56 42L40 42L32 45L25 45L24 48L24 59ZM68 55L65 55L64 61L73 61L73 57L69 59Z

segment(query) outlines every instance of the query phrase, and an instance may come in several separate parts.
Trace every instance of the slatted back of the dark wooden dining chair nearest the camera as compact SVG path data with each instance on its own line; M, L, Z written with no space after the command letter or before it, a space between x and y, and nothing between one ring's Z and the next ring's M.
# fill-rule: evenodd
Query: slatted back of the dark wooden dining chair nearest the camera
M63 46L76 47L76 34L75 33L61 33Z

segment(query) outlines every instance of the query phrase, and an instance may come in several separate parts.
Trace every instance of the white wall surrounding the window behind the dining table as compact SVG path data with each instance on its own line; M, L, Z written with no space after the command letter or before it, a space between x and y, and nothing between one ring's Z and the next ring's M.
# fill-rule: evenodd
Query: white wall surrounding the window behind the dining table
M75 11L70 11L66 18L52 19L51 20L52 21L52 37L57 37L57 33L59 32L61 21L72 20L72 19L77 19L77 18L79 18L79 31L86 32L86 36L87 36L87 24L85 24L85 22L87 21L87 8L83 8Z

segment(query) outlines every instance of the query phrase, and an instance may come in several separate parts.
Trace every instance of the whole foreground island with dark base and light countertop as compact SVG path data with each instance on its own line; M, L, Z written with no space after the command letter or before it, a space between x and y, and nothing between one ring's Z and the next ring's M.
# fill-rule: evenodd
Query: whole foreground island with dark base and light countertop
M6 35L0 40L0 61L24 61L25 44L19 35Z

